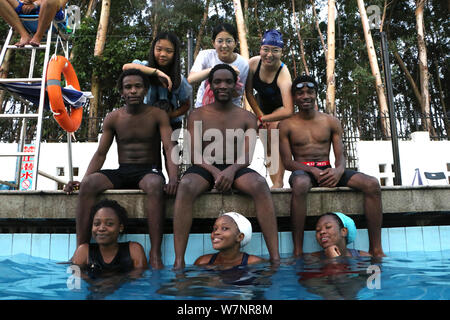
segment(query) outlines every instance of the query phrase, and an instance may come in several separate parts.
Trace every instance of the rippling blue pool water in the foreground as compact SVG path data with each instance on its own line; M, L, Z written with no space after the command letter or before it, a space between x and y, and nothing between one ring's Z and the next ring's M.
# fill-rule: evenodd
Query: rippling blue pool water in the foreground
M396 252L375 261L285 257L233 271L188 266L80 279L78 270L25 254L0 257L0 299L448 300L450 250Z

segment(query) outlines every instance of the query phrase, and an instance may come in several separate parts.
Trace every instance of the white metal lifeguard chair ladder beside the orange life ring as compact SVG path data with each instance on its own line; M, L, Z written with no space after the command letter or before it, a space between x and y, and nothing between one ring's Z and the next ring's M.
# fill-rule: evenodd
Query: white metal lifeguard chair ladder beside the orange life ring
M47 73L47 65L50 58L50 52L51 49L54 47L54 53L56 54L58 52L58 49L62 49L64 51L64 56L66 58L69 57L69 33L67 33L67 29L64 30L64 28L67 28L68 25L72 27L69 32L73 33L75 32L75 27L79 24L79 11L77 14L75 14L78 7L76 6L69 6L65 9L65 18L64 21L52 21L50 24L49 29L47 30L46 37L45 37L45 44L41 41L41 44L39 47L33 47L31 45L26 45L24 47L16 47L15 45L11 44L12 38L13 38L13 28L11 27L9 29L9 33L6 37L5 43L2 47L2 51L0 53L0 67L3 65L3 61L6 56L6 51L8 49L11 50L31 50L31 59L30 59L30 66L28 68L28 77L27 78L4 78L0 79L0 84L7 84L7 83L18 83L18 82L24 82L24 83L40 83L40 95L39 95L39 106L37 108L36 113L27 113L27 104L25 104L24 112L23 113L14 113L14 114L0 114L0 119L22 119L22 125L21 125L21 131L20 131L20 142L18 146L17 152L9 152L9 153L3 153L0 152L0 157L18 157L17 166L16 166L16 175L15 175L15 184L12 184L7 181L1 181L0 184L8 185L9 187L13 187L16 189L19 189L19 184L21 180L21 169L22 169L22 160L23 157L33 157L32 166L30 166L32 169L30 170L31 173L31 187L28 190L36 190L37 187L37 176L38 174L44 175L47 178L53 179L58 182L58 178L53 177L49 174L46 174L42 171L39 171L39 154L40 154L40 147L41 147L41 136L42 136L42 120L43 120L43 113L44 113L44 98L45 98L45 79L46 79L46 73ZM19 15L19 18L21 19L23 25L25 28L30 32L34 33L35 30L33 30L34 26L37 24L38 15ZM70 19L72 19L70 21ZM70 22L70 24L69 24ZM34 26L33 26L34 24ZM52 39L53 36L53 39ZM38 78L33 78L34 74L34 67L35 67L35 61L36 61L36 53L38 50L45 50L44 55L44 63L42 67L42 75ZM3 89L3 88L2 88ZM35 136L35 146L34 151L31 152L25 152L25 137L26 137L26 120L27 119L37 119L37 125L36 125L36 136ZM67 140L69 144L69 170L70 170L70 178L72 179L72 155L71 155L71 138L70 134L67 133Z

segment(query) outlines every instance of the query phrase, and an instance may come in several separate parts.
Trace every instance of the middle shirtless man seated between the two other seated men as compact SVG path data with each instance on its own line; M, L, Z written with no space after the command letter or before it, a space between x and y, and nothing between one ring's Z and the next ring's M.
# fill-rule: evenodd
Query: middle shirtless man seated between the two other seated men
M252 154L251 143L244 133L254 132L256 139L256 117L233 104L237 74L227 64L216 65L208 79L214 93L214 102L191 112L188 117L187 129L190 135L191 159L194 164L180 181L174 205L173 230L175 245L174 269L184 268L184 254L192 224L192 208L195 199L202 193L215 188L226 192L232 187L250 195L255 202L256 217L260 224L272 261L278 261L278 230L272 196L266 179L256 171L249 169ZM199 125L200 124L200 125ZM228 140L227 133L242 132L237 139L227 141L225 145L211 150L216 140ZM208 133L215 132L222 139L207 139ZM199 145L196 145L195 141ZM214 143L214 145L212 144ZM237 156L242 150L241 156ZM231 151L231 152L230 152ZM230 154L233 154L232 156ZM243 157L242 157L243 154ZM242 161L241 161L242 160Z

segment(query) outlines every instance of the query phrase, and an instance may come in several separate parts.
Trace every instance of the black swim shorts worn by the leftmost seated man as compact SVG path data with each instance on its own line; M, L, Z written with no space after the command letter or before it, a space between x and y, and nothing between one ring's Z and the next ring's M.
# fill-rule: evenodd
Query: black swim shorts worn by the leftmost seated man
M104 174L114 185L114 189L139 189L139 182L142 178L149 174L157 174L166 179L160 169L156 165L148 164L121 164L118 169L100 170L99 173Z

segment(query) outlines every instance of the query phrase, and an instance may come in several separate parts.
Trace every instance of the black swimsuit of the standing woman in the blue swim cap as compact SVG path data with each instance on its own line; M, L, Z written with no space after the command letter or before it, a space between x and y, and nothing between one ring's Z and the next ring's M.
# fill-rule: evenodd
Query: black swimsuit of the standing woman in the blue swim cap
M277 86L278 76L284 63L281 63L280 68L275 74L272 83L265 83L259 78L259 70L261 69L261 60L259 60L256 72L253 75L253 89L258 93L256 99L259 107L264 114L270 114L279 107L283 106L283 99L281 98L280 88Z

